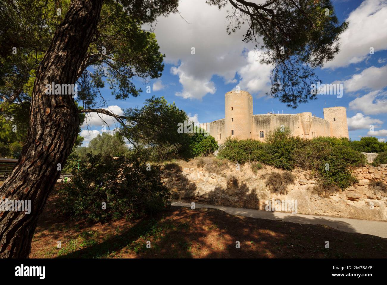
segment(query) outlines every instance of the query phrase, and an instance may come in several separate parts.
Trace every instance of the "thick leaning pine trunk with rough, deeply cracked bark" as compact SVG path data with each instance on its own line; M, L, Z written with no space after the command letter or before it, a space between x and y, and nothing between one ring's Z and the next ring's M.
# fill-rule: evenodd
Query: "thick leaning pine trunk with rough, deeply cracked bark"
M46 84L74 84L96 32L103 0L73 0L36 73L28 138L0 199L31 200L31 213L0 212L0 257L27 258L46 200L77 138L79 115L71 95L46 95Z

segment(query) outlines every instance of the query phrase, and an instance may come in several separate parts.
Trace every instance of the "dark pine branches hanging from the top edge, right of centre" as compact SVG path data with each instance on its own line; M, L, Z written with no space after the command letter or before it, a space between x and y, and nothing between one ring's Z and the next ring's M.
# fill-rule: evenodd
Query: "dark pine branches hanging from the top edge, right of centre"
M261 63L274 67L271 95L288 107L315 99L311 85L319 79L313 69L339 52L339 36L348 27L339 24L330 0L207 0L219 9L231 3L228 33L247 24L243 41L264 51Z

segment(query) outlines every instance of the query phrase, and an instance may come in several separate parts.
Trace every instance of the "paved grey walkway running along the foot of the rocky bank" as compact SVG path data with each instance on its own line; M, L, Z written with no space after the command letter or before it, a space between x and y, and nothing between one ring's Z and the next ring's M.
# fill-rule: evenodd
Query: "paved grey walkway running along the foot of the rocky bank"
M190 203L183 202L171 202L171 205L180 207L191 207ZM377 237L387 238L387 222L303 214L290 214L276 211L240 209L195 203L195 209L197 208L219 209L231 215L245 216L257 219L282 220L299 224L327 225L331 228L335 228L336 230L346 231L348 233L365 233L367 235L375 235Z

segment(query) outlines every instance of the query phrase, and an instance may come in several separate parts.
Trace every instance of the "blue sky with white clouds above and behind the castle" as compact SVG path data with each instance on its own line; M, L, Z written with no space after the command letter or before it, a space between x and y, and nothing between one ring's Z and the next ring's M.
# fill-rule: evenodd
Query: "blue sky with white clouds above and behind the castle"
M204 0L183 0L179 5L181 16L158 19L155 34L161 52L166 54L161 78L149 82L135 79L136 86L141 86L144 92L126 101L115 100L108 86L101 94L116 114L122 114L125 108L141 107L153 95L164 96L193 121L205 123L224 117L224 93L238 85L253 96L254 114L312 112L323 117L324 107L344 106L352 140L372 135L384 141L387 138L387 0L334 0L333 3L339 21L349 21L349 28L341 37L339 54L317 69L316 74L322 83L342 84L342 98L319 95L317 100L291 109L265 96L270 88L271 67L259 64L260 51L255 52L252 45L242 43L243 26L232 35L226 34L227 8L219 11ZM151 86L151 93L145 92L146 86ZM109 122L110 128L114 128L113 120ZM90 131L82 127L84 145L101 133L101 124L96 114L89 117ZM370 124L374 126L373 132Z

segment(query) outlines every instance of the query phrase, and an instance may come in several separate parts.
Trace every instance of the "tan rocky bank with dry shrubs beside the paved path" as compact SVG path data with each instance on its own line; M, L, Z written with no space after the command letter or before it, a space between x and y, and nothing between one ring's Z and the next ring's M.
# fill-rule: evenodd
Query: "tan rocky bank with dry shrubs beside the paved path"
M250 164L240 166L229 163L219 173L197 166L197 161L178 162L178 167L163 171L163 183L170 189L173 200L201 202L222 206L264 210L267 201L297 200L299 214L317 214L356 219L387 220L387 193L375 192L371 180L387 181L387 168L367 166L354 169L358 183L328 197L313 194L315 177L310 171L295 169L295 185L288 185L286 195L271 193L265 184L273 171L264 166L253 173Z

